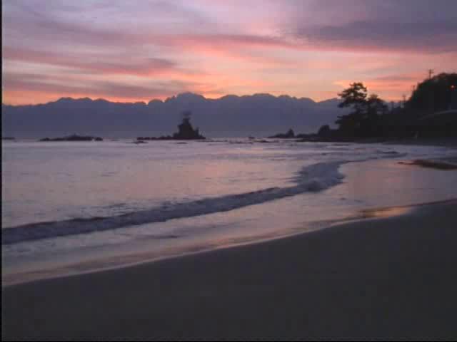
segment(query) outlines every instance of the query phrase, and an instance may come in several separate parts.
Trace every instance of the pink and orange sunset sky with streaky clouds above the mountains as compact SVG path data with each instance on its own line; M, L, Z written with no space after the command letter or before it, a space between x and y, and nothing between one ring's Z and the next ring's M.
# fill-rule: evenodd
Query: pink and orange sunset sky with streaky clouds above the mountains
M453 0L3 0L2 98L400 100L457 71Z

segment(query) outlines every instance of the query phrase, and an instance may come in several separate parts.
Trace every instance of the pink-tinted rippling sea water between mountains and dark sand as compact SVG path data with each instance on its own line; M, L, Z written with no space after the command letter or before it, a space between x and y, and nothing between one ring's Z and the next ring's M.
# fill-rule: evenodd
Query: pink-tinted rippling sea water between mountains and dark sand
M268 142L264 142L268 141ZM450 147L214 139L2 143L3 283L255 242L457 197Z

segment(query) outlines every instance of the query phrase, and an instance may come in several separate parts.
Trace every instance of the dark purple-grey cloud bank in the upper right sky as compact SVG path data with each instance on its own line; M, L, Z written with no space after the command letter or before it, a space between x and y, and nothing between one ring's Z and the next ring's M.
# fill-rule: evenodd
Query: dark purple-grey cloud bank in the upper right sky
M309 46L343 51L457 51L457 2L293 1L288 33ZM284 30L287 32L287 29Z

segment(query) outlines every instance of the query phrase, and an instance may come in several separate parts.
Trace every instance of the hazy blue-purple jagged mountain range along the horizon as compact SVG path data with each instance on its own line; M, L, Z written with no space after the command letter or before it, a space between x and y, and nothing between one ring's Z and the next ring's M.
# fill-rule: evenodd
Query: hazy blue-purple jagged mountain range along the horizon
M39 105L4 105L3 135L19 138L56 137L79 133L113 137L162 135L174 130L184 110L210 137L267 136L293 128L297 133L317 130L334 122L338 99L315 102L309 98L270 94L226 95L218 99L181 93L164 101L114 103L104 99L61 98Z

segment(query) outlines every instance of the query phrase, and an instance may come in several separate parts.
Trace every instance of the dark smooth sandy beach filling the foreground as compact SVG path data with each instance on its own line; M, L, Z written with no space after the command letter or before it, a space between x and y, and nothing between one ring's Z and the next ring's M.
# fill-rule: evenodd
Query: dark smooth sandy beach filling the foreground
M6 286L2 338L455 338L456 209Z

